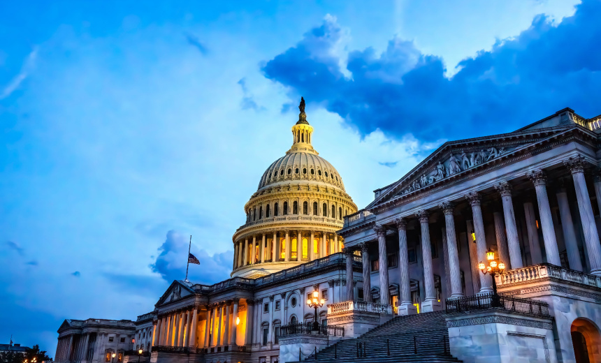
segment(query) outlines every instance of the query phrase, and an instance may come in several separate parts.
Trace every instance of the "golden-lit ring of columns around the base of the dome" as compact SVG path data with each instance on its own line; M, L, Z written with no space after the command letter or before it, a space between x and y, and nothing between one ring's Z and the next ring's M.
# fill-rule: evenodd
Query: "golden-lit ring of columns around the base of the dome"
M281 245L278 235L280 235L280 238L284 236L284 258L282 258L282 251L280 251ZM317 235L320 236L319 249L318 251L314 251L313 241L314 237ZM333 235L333 238L328 237L330 235ZM270 242L268 237L272 237ZM303 258L303 238L307 239L307 258ZM233 269L264 262L289 262L302 260L312 261L316 260L317 258L326 257L332 253L340 252L338 235L335 233L312 230L296 231L296 256L292 255L292 239L294 239L294 236L292 236L289 230L279 233L278 231L266 232L258 236L253 235L252 237L240 239L234 243ZM259 248L259 258L256 258L257 248ZM266 249L269 251L268 256L266 256Z

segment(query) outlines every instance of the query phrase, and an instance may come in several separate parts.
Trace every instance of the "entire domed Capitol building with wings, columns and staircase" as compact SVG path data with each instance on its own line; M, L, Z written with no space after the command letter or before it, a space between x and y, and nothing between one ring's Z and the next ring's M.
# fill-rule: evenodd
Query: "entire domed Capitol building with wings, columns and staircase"
M601 362L601 116L446 142L358 211L299 109L231 279L64 320L55 361Z

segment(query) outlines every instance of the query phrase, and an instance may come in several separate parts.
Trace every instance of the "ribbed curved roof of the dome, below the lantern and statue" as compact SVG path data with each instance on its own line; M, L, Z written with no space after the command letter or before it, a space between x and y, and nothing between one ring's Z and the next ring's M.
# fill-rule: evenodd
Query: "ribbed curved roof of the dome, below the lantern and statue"
M313 152L290 152L274 161L263 173L259 190L272 184L321 182L345 191L345 184L331 163Z

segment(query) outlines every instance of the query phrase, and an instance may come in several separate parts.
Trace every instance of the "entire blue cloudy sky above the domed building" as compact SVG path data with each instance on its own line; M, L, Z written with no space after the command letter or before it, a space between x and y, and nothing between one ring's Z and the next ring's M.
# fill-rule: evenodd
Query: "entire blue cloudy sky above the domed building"
M601 113L601 2L2 1L0 343L199 283L307 100L359 207L445 140Z

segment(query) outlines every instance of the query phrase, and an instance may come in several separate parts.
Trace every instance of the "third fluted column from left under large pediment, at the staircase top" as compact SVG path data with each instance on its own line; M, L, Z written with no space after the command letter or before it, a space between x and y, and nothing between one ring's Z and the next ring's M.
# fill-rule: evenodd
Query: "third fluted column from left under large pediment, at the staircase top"
M421 260L423 262L423 290L426 299L421 304L421 311L428 313L442 309L442 304L436 299L434 288L434 272L432 269L432 246L430 246L430 215L428 211L421 210L417 213L421 225Z

